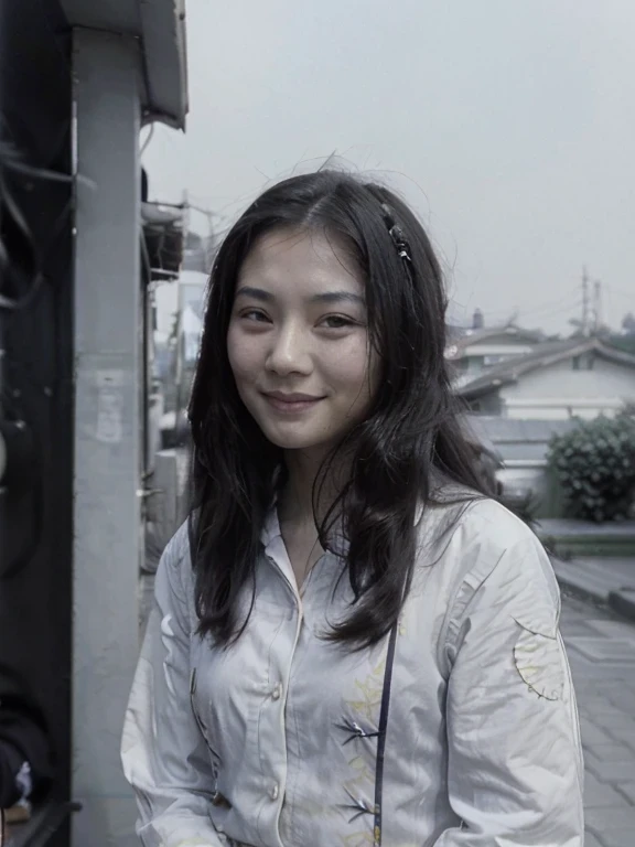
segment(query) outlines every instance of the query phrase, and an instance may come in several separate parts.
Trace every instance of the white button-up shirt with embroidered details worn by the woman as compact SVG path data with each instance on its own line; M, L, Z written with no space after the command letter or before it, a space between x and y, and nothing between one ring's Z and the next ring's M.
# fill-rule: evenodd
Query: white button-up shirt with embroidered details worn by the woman
M580 735L548 557L486 500L427 508L418 537L385 739L384 847L582 847ZM341 571L325 554L300 598L273 510L249 623L223 650L195 633L186 527L172 539L122 740L146 847L375 843L387 639L352 652L321 637L352 600Z

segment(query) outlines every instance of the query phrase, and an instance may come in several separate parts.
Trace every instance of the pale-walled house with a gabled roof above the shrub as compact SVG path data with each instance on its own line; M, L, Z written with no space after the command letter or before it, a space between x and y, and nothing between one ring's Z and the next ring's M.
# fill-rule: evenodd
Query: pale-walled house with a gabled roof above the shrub
M635 401L635 356L595 337L545 342L488 367L456 393L481 415L542 420L612 416Z

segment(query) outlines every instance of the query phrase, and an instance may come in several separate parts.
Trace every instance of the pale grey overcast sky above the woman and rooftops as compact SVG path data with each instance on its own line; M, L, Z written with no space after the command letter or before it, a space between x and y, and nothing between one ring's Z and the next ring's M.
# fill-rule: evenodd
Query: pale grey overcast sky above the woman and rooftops
M633 0L189 0L186 24L151 199L226 226L336 150L416 206L459 318L567 331L584 264L610 323L635 311Z

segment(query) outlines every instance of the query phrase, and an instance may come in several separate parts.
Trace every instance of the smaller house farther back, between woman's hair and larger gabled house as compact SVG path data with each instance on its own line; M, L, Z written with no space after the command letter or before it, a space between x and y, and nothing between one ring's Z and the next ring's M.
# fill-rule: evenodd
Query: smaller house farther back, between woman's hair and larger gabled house
M532 353L545 340L541 332L514 323L467 330L453 328L448 334L445 358L458 387L476 379L493 365Z

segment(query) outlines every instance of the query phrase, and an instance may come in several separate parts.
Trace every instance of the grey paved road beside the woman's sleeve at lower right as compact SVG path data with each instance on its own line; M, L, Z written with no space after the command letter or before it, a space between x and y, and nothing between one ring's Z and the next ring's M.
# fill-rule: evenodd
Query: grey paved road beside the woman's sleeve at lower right
M635 624L563 597L561 629L584 748L585 847L635 847Z

